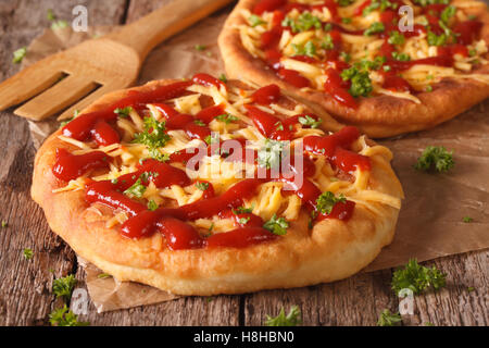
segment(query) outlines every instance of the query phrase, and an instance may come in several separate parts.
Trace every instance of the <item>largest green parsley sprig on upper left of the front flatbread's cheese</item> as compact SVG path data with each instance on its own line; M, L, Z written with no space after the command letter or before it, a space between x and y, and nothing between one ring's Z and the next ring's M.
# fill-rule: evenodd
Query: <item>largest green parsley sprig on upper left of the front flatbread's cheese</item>
M164 154L159 151L171 139L170 135L165 133L165 122L158 122L151 116L147 116L143 120L145 132L137 133L133 139L133 142L142 144L148 147L150 156L159 161L165 161Z

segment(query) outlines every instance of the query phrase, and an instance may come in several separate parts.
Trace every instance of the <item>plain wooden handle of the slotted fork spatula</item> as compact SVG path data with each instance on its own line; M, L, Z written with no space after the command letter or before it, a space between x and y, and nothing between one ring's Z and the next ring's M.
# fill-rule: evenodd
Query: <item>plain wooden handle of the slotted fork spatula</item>
M174 0L142 18L108 34L104 38L134 48L141 59L156 45L193 23L230 3L233 0Z

